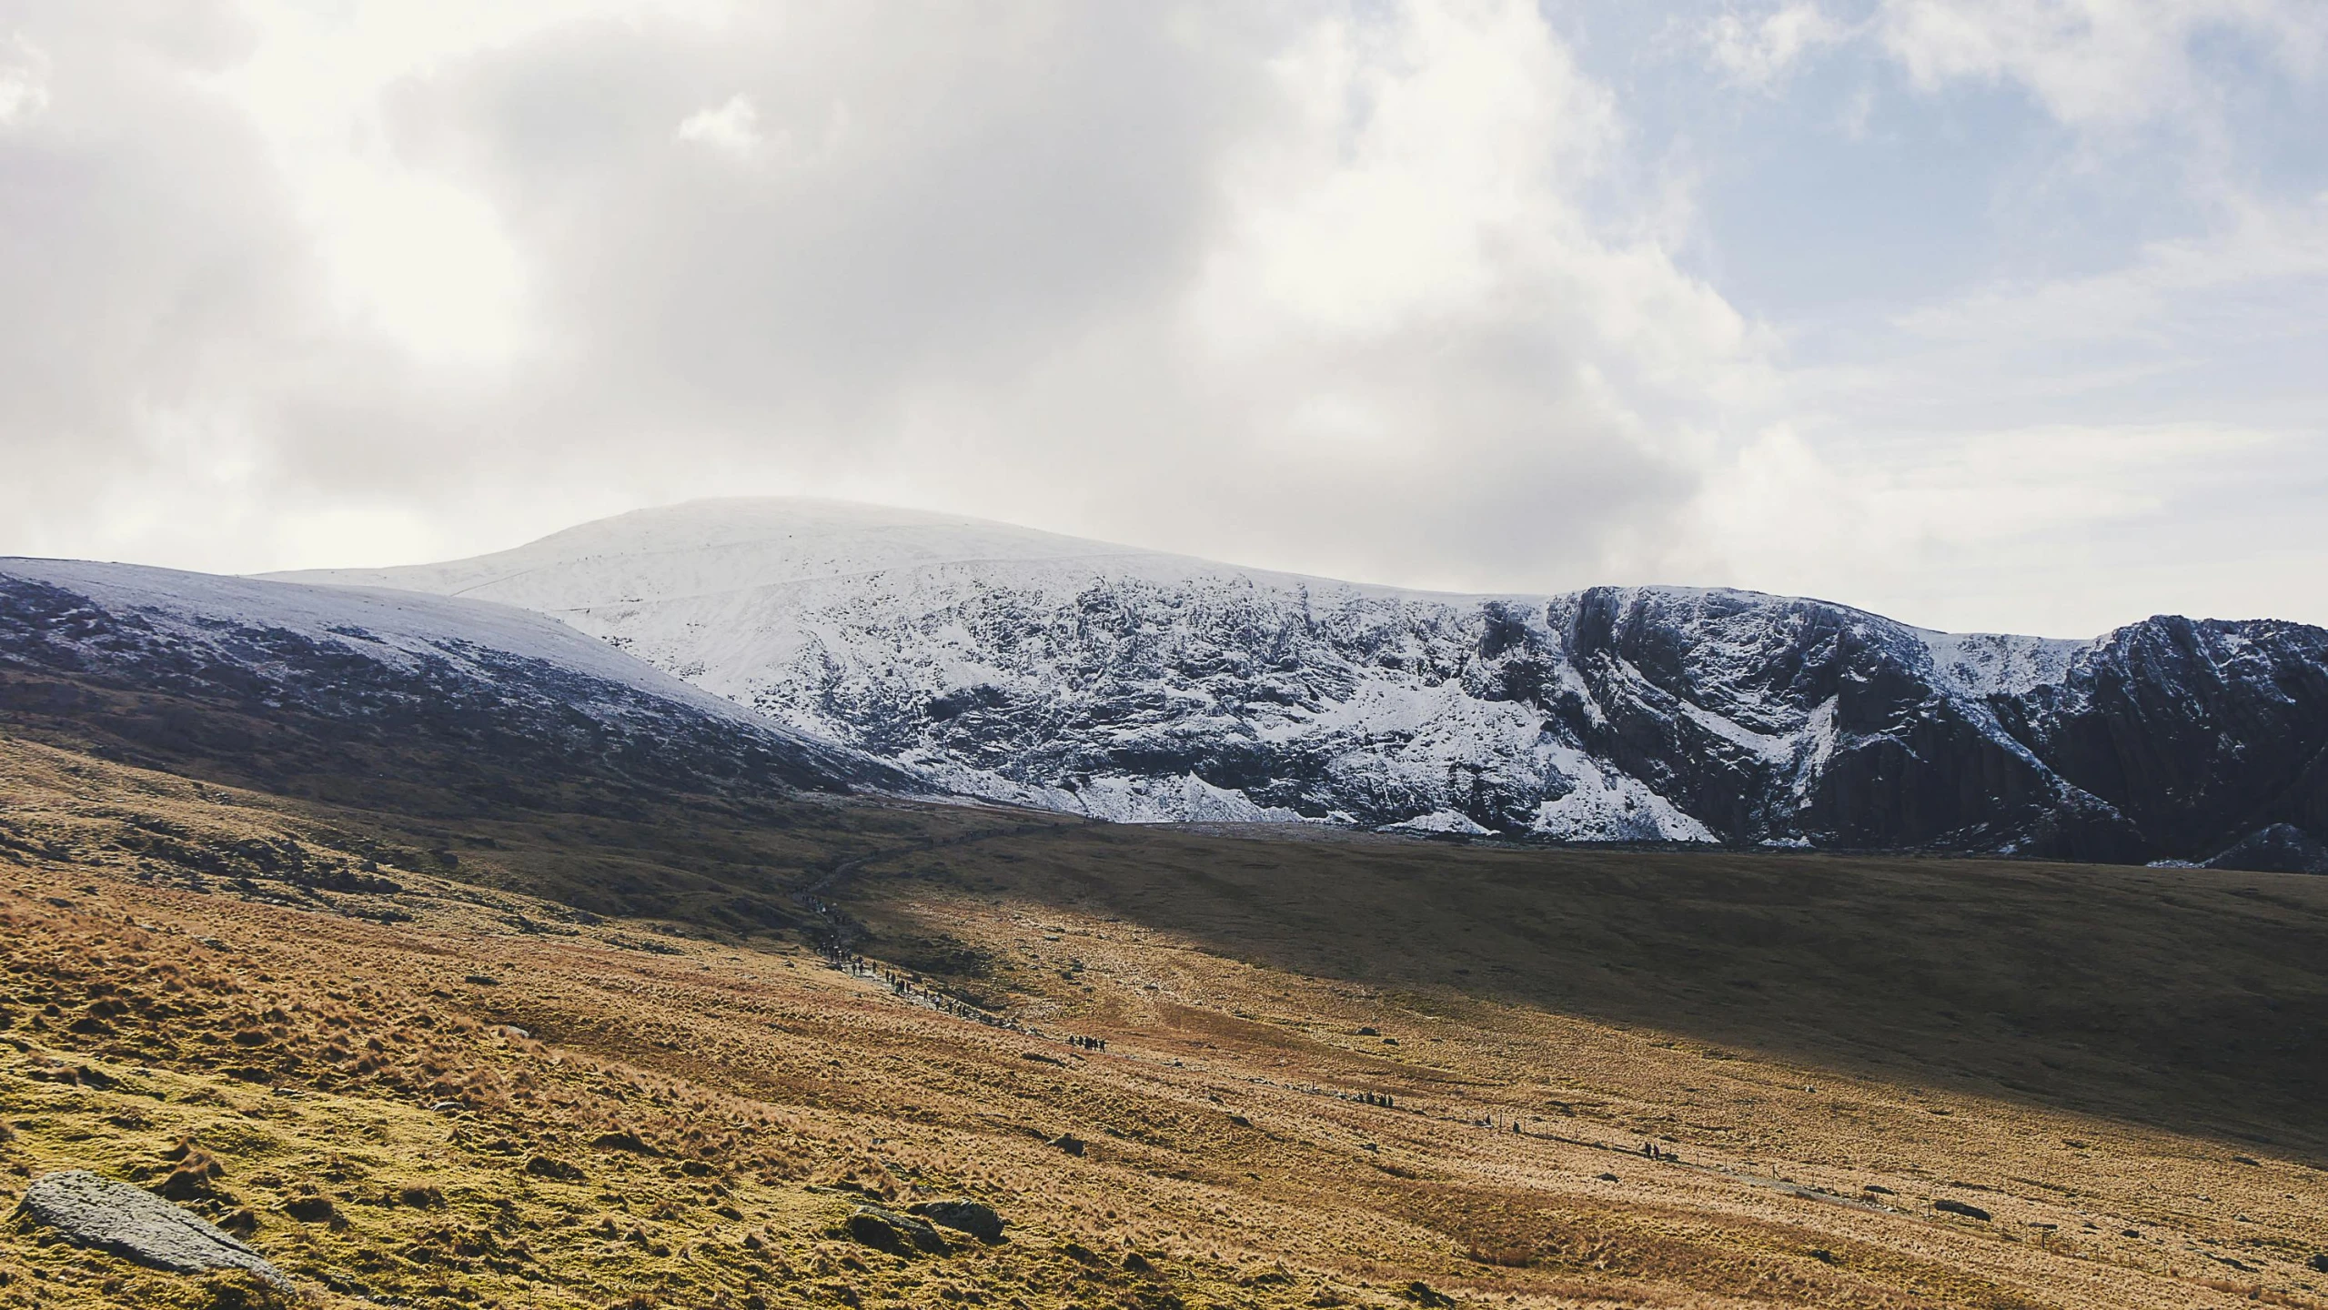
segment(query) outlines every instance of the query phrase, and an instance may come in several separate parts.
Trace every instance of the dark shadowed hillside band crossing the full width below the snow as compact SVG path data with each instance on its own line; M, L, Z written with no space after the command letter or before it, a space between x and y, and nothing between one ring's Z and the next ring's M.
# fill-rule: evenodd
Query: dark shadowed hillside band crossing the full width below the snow
M1103 905L1234 959L2172 1129L2316 1140L2312 1108L2328 1101L2328 880L2307 875L1560 852L1110 826L722 779L680 791L589 756L354 735L321 714L23 672L0 672L0 714L56 745L298 798L352 833L349 866L393 849L596 914L810 931L799 893L845 866L836 893L908 877L915 891Z

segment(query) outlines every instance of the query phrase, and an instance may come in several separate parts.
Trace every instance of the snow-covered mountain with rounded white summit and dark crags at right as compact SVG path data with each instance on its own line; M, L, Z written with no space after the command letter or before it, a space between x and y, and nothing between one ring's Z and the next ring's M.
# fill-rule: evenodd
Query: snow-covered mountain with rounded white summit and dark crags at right
M284 575L554 614L950 789L1108 819L2202 859L2328 831L2328 633L1930 633L1748 591L1446 596L826 500Z

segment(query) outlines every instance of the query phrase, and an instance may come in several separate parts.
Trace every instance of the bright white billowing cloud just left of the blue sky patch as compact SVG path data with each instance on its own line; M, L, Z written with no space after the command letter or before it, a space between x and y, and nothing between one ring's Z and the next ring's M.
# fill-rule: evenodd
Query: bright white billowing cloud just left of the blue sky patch
M1620 140L1609 93L1527 5L1329 16L1264 91L1180 316L1071 354L1138 382L1022 398L1057 407L1045 428L1152 442L1106 456L1136 472L1073 526L1474 586L1583 582L1620 537L1658 540L1762 396L1769 342L1585 212ZM1187 393L1152 437L1115 405L1166 389Z

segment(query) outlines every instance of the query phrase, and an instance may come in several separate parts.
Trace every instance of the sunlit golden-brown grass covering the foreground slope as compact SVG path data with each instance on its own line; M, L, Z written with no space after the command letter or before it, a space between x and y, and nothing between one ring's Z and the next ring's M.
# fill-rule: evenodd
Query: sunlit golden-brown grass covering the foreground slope
M168 826L347 859L265 796L21 742L0 742L0 1180L172 1187L256 1222L326 1305L2328 1303L2305 1268L2328 1250L2309 1147L1807 1061L1783 1028L1739 1040L1744 1019L1713 1045L1685 1012L1560 1008L1499 949L1439 959L1504 963L1499 987L1434 975L1436 947L1315 968L1292 959L1301 926L1225 873L1259 852L1292 877L1276 845L1159 847L1171 898L1108 866L1120 849L1036 838L868 863L875 947L1034 1028L1010 1033L796 940L577 921L375 856L349 868L398 891L193 891L137 845ZM1325 849L1353 905L1387 896ZM1374 954L1348 933L1311 949ZM1013 1240L899 1259L836 1236L864 1196L941 1194L992 1201ZM0 1236L0 1305L247 1298L26 1229Z

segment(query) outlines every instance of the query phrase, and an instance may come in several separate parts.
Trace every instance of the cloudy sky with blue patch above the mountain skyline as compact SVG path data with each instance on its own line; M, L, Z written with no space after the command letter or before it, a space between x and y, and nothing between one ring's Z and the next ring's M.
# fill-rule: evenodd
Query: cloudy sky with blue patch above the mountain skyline
M2321 0L0 0L0 554L2328 624Z

